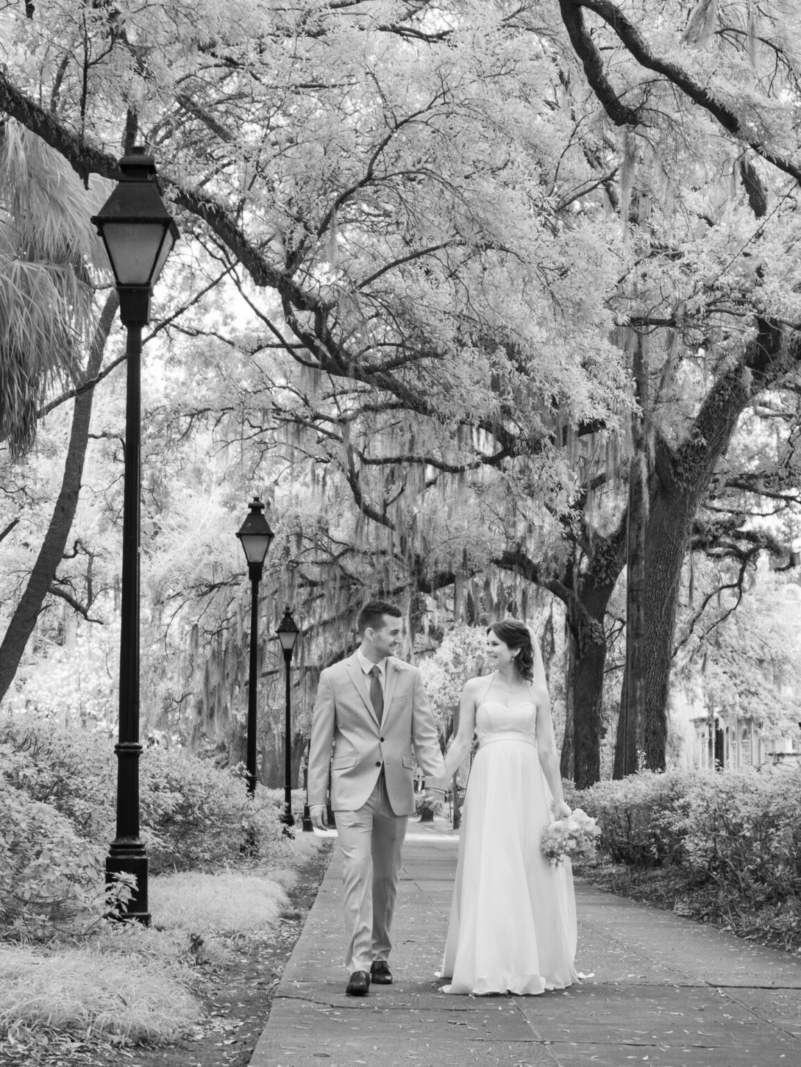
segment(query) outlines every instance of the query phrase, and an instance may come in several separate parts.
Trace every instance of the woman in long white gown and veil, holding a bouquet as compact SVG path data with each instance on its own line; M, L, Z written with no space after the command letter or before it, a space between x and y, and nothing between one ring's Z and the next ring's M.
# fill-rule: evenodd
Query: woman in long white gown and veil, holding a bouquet
M540 840L551 818L571 809L542 655L528 626L507 619L487 630L487 658L494 671L465 684L445 758L451 776L478 733L442 969L450 984L442 991L564 989L578 978L573 877L570 860L548 864Z

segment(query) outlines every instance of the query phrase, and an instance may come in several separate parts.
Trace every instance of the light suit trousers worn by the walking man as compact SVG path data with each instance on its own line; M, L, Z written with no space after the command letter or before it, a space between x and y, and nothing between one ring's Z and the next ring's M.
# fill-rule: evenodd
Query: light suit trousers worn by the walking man
M354 971L369 973L374 959L389 956L407 822L407 815L396 815L391 809L383 767L375 789L361 808L336 812L342 851L348 974Z

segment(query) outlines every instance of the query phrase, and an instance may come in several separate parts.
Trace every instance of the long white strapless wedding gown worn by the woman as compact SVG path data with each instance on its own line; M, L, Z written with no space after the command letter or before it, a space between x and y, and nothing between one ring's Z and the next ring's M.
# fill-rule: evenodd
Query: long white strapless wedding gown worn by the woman
M442 976L446 993L542 993L578 980L570 860L540 850L551 819L536 706L479 703Z

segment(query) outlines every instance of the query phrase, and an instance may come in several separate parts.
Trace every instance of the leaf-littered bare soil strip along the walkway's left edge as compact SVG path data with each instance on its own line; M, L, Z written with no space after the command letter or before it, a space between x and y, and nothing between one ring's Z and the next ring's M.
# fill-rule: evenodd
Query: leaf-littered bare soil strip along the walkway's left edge
M175 1045L123 1046L108 1039L41 1032L35 1047L0 1045L2 1067L245 1067L270 1015L284 967L315 903L331 856L326 842L298 870L289 905L268 937L241 936L227 943L229 960L198 968L195 996L203 1022Z

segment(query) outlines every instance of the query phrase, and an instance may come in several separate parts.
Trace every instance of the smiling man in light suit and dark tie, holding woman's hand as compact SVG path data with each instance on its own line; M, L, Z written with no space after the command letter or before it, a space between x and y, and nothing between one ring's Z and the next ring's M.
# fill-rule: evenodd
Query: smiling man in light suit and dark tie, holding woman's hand
M393 654L401 636L400 610L370 601L357 626L356 652L320 674L307 778L311 822L324 829L331 767L331 807L343 859L349 997L364 997L371 981L393 981L389 935L401 847L415 810L415 757L424 775L445 775L420 672Z

